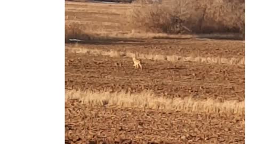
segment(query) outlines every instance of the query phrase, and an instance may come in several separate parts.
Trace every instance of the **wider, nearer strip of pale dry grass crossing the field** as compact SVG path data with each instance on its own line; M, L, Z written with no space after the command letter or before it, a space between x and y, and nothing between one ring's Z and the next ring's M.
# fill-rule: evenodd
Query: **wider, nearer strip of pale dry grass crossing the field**
M75 91L66 90L66 101L79 99L85 105L96 106L118 106L125 108L142 108L157 110L177 110L184 113L217 113L226 115L244 116L244 101L217 102L211 98L207 100L195 100L191 97L185 99L156 97L151 91L141 93L106 92L106 91Z

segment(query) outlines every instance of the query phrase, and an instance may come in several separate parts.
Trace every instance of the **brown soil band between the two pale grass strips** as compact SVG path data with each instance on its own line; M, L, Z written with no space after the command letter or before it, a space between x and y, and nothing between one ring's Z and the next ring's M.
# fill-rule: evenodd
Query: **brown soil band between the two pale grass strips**
M130 89L132 92L146 89L169 98L193 95L195 98L244 100L244 79L238 75L244 71L242 68L236 69L235 66L206 67L185 62L169 64L143 61L146 64L143 65L143 70L139 71L132 67L130 59L107 59L104 56L85 54L69 54L67 57L69 60L66 67L66 89ZM123 66L115 66L116 62L123 63ZM193 74L196 74L195 78Z

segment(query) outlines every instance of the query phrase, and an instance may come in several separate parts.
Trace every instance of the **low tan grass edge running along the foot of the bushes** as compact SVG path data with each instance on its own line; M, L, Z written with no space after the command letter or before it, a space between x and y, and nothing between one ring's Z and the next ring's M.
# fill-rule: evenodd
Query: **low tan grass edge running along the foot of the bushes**
M103 26L102 26L103 27ZM78 20L66 21L65 43L69 39L79 39L84 42L91 40L122 40L122 39L188 39L188 38L214 38L214 39L239 39L239 34L165 34L165 33L137 33L113 31L107 32L101 26L96 27L91 23L82 24Z

